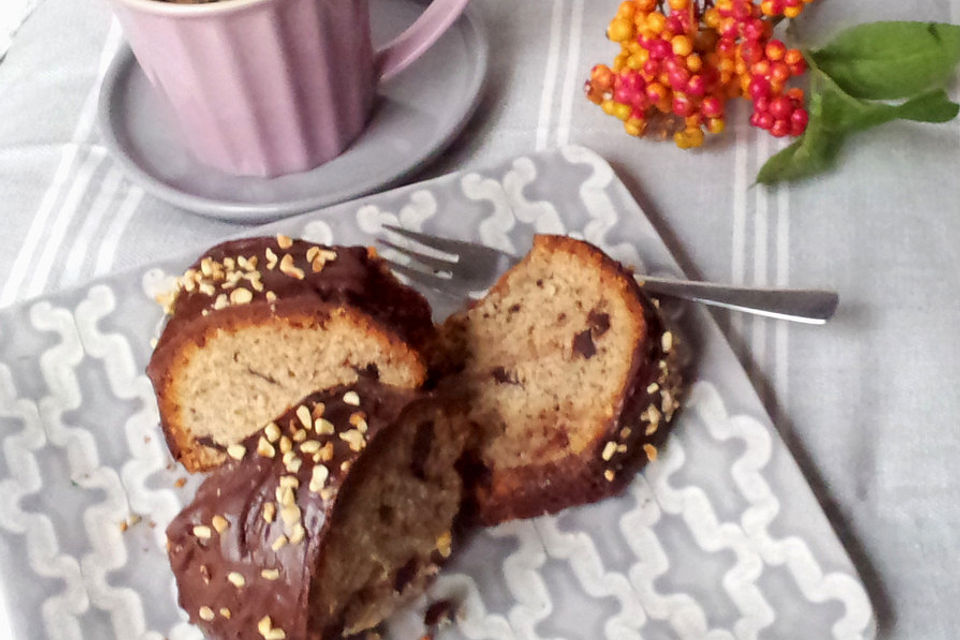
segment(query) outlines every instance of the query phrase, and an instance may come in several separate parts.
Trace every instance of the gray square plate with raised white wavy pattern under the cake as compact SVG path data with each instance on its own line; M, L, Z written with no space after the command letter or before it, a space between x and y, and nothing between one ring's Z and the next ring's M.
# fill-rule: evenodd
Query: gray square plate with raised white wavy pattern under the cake
M569 233L680 275L613 170L582 147L516 158L276 223L371 243L383 223L523 252ZM153 295L192 256L0 312L0 624L12 637L183 640L164 528L198 478L173 464L143 374ZM438 315L450 310L437 303ZM709 314L666 306L695 354L660 458L619 498L478 531L388 637L870 639L866 592ZM0 627L2 628L2 627Z

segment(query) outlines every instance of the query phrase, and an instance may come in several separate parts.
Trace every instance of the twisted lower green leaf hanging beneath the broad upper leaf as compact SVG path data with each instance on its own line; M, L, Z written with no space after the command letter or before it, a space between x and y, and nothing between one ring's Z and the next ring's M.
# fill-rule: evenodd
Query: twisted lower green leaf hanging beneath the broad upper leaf
M846 93L818 70L810 84L810 122L803 136L772 156L757 174L760 184L799 180L829 169L846 137L891 120L946 122L957 116L960 105L938 89L899 105L859 100Z

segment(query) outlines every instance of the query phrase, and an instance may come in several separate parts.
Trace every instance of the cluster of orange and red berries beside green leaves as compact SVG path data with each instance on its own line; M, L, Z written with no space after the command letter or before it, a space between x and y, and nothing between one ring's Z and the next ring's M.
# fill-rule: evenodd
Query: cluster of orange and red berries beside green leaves
M806 71L803 55L772 37L772 19L793 18L812 0L626 0L607 37L620 44L613 66L597 65L585 91L604 112L641 136L666 116L681 149L723 131L730 98L753 101L751 124L775 136L807 125L803 91L788 80Z

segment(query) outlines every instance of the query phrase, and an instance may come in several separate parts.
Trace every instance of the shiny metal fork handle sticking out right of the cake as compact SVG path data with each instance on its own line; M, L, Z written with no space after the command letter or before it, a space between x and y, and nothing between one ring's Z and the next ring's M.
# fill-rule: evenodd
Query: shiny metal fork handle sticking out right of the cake
M759 289L708 282L637 276L650 293L693 300L767 318L806 324L824 324L837 310L840 298L818 289Z

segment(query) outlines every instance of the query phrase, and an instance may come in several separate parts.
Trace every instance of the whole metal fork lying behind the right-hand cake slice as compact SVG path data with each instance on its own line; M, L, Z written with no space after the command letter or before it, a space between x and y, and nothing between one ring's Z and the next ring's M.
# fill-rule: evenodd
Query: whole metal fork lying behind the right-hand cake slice
M415 267L387 260L394 271L455 298L462 299L471 291L487 289L504 271L520 261L509 253L472 242L440 238L393 225L384 225L384 228L430 250L429 253L416 251L381 238L384 246L418 263ZM656 295L806 324L824 324L833 316L839 303L836 293L819 289L731 287L647 275L635 277L646 291Z

